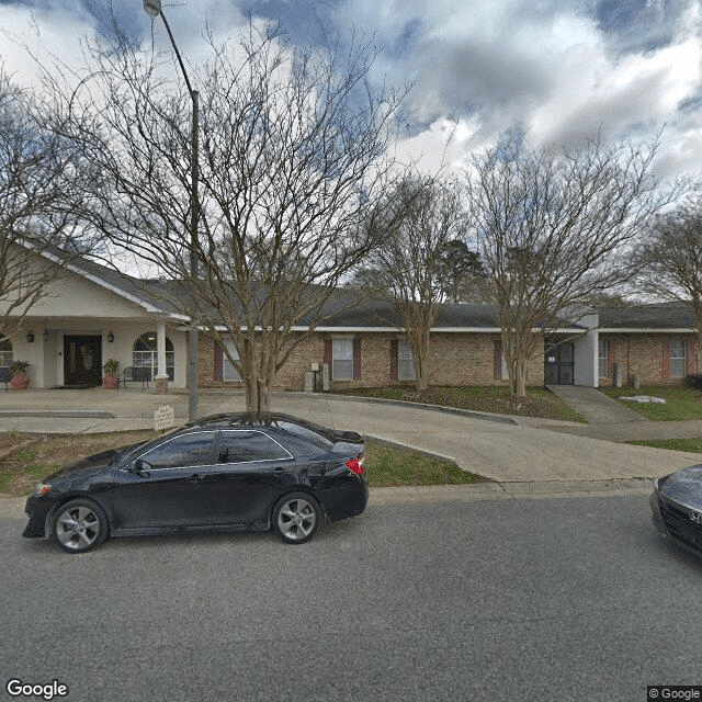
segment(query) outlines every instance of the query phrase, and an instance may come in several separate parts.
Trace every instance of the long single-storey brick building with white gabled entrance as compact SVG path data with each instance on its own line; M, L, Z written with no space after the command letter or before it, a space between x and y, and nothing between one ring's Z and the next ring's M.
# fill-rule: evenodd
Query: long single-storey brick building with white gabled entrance
M150 381L185 387L188 319L173 304L177 286L81 259L56 258L55 263L61 278L21 327L0 339L0 366L26 361L33 387L75 387L100 384L102 365L114 359L122 370L139 369ZM387 303L350 306L349 295L330 303L324 326L312 335L305 336L304 325L294 329L299 344L280 371L276 388L303 389L305 374L325 363L332 388L414 378L407 339ZM445 306L431 331L429 383L506 383L497 319L489 305ZM204 335L199 341L199 385L236 386L237 373L222 349ZM528 382L597 387L638 376L642 384L680 383L702 371L699 351L694 319L679 305L589 312L543 340L543 355L532 360Z

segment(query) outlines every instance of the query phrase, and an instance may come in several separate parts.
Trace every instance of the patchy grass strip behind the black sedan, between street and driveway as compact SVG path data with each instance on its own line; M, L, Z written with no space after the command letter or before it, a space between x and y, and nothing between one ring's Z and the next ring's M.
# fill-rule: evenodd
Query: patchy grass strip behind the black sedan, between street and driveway
M26 496L43 477L67 463L156 435L152 431L70 435L0 433L0 496ZM373 487L458 485L486 479L452 463L373 441L366 443L365 465Z

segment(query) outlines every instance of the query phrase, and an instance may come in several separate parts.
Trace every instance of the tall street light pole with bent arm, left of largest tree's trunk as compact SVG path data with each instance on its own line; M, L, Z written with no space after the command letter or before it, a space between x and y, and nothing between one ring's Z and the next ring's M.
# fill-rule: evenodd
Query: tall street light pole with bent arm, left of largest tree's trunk
M185 65L181 58L171 27L166 20L163 10L161 9L161 0L144 0L144 9L151 18L161 15L166 31L171 41L180 69L183 72L190 98L193 102L192 135L191 135L191 154L190 154L190 276L192 281L197 280L197 220L200 218L200 201L197 200L197 148L200 134L200 93L193 90L185 70ZM189 326L189 347L188 347L188 421L194 421L197 418L197 322L194 317L190 317Z

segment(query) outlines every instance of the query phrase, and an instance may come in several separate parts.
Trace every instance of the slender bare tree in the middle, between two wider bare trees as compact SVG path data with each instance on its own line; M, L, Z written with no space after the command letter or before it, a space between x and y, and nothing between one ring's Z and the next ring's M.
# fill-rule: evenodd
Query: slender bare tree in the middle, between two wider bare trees
M382 203L370 228L382 231L381 244L365 259L358 278L389 302L401 319L416 384L423 389L431 328L449 298L445 252L453 240L464 236L462 195L453 182L406 176Z

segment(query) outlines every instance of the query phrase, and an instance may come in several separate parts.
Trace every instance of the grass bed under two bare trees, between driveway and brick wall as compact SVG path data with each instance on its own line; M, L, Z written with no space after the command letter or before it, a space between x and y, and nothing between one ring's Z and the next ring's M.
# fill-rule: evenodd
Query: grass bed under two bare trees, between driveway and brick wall
M430 385L426 390L418 390L411 384L404 384L388 387L354 387L335 392L339 395L399 399L407 403L457 407L460 409L498 415L521 415L544 419L585 421L580 415L570 409L545 387L528 387L525 403L516 403L510 397L509 388L502 385L475 385L468 387Z

